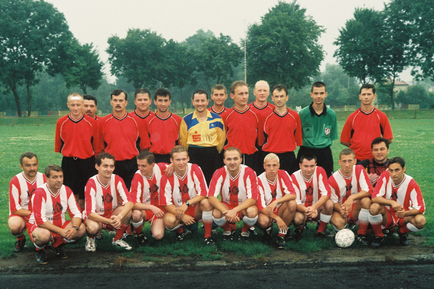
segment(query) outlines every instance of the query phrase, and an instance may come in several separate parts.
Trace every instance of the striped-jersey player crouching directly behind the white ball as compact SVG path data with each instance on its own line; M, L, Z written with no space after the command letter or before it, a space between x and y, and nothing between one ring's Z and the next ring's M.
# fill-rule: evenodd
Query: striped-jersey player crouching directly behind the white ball
M336 231L345 228L347 223L359 225L357 238L368 245L369 207L371 206L372 186L363 166L356 165L352 149L340 152L340 169L328 179L333 201L333 214L330 223Z

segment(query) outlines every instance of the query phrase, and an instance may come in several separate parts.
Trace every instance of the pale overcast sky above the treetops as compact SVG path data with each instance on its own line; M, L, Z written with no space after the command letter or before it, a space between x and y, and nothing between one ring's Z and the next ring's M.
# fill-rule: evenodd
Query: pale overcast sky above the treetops
M211 30L215 35L229 35L236 43L245 36L246 27L259 23L277 0L47 0L64 14L69 29L83 43L94 43L100 58L107 62L107 39L112 35L124 38L130 28L150 29L166 40L178 42L194 35L199 29ZM389 0L299 0L318 25L326 31L319 39L326 63L335 63L333 42L339 28L353 18L355 8L382 10ZM248 53L248 52L247 52ZM248 63L247 63L248 65ZM109 65L105 72L110 74ZM110 78L113 79L113 78ZM412 79L409 70L401 75L404 81Z

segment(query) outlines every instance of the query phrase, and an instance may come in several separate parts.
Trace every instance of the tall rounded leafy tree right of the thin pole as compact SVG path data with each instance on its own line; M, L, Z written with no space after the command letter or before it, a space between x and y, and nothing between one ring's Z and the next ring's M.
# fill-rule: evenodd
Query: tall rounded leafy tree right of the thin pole
M248 28L247 80L285 83L301 88L319 74L324 59L318 38L324 29L307 16L296 2L284 3L269 10L261 23Z

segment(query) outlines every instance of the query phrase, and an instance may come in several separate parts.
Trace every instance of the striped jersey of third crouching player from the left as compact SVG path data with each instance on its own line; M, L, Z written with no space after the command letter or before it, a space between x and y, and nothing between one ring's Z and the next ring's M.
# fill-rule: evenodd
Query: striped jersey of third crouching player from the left
M84 199L86 215L97 213L104 218L110 218L113 210L127 202L135 203L124 180L116 174L112 174L107 185L100 182L98 174L91 177L84 189Z

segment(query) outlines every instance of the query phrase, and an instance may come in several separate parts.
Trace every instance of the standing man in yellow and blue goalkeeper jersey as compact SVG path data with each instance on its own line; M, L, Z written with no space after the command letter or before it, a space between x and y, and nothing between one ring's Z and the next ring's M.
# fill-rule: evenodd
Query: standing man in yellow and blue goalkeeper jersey
M181 121L180 145L188 149L190 162L201 167L207 183L210 183L218 168L226 134L223 120L207 110L208 103L208 93L204 89L193 93L195 111Z

